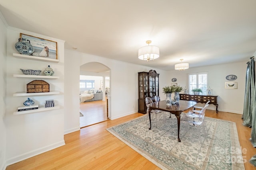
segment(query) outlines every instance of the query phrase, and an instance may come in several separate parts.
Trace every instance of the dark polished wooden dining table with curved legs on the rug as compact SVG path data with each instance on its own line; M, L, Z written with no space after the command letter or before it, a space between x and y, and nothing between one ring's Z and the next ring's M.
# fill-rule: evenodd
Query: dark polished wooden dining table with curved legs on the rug
M149 109L148 109L148 113L149 113L148 116L149 116L149 122L150 122L149 129L151 129L151 116L150 116L151 110L162 110L162 111L170 112L171 114L174 114L177 117L178 141L180 142L180 114L182 113L182 111L185 111L186 109L189 109L190 107L193 107L195 105L196 105L196 102L185 101L185 100L180 100L179 103L172 104L171 106L167 106L165 100L162 100L160 102L153 102L149 104Z

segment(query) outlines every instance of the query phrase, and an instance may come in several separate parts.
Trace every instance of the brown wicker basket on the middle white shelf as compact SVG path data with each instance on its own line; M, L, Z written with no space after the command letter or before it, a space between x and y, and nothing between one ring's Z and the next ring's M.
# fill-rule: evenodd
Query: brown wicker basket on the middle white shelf
M44 80L34 80L27 84L27 93L50 92L50 85Z

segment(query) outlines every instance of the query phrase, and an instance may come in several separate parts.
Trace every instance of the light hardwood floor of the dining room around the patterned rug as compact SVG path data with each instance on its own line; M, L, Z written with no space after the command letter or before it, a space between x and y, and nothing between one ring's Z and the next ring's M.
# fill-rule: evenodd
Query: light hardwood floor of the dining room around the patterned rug
M134 113L69 133L64 136L66 145L10 165L6 170L160 170L160 168L106 131L108 127L142 115L141 113ZM242 125L241 115L206 110L206 116L236 122L240 145L242 149L246 149L246 152L243 152L243 156L246 159L245 168L246 170L256 169L248 162L256 154L256 149L252 147L248 140L251 128Z

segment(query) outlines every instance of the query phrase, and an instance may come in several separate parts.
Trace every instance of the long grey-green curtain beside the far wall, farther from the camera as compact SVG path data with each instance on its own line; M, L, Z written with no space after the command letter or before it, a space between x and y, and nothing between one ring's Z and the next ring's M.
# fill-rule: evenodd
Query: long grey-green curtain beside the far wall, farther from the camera
M244 112L242 118L244 119L243 125L252 126L252 109L254 101L254 57L250 58L251 61L247 62L246 69L246 84L244 94Z

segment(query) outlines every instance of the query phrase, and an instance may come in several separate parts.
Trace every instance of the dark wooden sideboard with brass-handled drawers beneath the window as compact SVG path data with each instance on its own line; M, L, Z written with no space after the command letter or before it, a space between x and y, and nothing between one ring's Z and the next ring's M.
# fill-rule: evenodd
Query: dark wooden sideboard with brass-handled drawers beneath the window
M204 95L192 95L192 94L180 94L180 100L189 100L197 103L206 103L210 100L209 104L216 106L216 113L218 113L218 96L204 96Z

